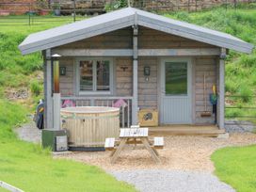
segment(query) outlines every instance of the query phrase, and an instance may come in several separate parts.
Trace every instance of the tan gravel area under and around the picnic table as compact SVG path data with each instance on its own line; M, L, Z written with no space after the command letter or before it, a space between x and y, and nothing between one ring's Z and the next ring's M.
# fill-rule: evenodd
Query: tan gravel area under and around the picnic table
M95 165L105 170L132 169L178 169L213 172L210 156L219 148L256 144L256 135L231 134L229 138L201 136L166 136L165 147L158 150L161 164L157 165L151 155L141 146L125 146L117 162L110 163L110 152L72 152L65 156L76 161Z

